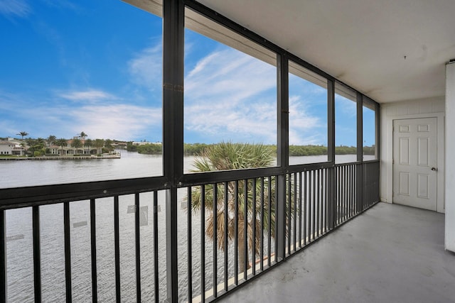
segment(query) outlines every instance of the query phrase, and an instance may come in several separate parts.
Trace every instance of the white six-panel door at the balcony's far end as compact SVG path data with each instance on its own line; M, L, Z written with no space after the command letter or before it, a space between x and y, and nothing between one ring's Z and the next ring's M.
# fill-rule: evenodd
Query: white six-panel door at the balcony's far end
M437 210L437 119L393 121L393 203Z

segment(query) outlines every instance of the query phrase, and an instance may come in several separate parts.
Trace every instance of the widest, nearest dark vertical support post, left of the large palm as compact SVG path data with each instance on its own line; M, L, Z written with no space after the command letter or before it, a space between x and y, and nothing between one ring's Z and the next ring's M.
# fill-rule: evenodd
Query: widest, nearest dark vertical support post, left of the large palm
M163 164L166 186L167 302L178 302L177 188L183 175L183 55L185 6L163 1Z

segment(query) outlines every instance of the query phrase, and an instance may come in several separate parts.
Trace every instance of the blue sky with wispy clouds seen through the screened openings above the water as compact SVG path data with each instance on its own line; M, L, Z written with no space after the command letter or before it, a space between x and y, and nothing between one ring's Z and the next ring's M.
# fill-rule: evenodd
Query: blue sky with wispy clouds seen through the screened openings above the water
M161 32L122 1L0 0L0 136L162 141ZM276 144L275 67L189 30L185 48L184 140ZM290 77L290 143L327 144L325 94Z

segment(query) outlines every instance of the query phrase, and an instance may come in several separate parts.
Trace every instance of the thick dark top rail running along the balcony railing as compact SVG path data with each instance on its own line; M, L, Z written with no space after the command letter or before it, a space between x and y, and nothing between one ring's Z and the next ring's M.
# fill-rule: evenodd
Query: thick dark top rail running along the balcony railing
M230 182L235 180L252 179L284 175L287 173L318 170L329 167L343 167L359 165L362 163L373 164L380 160L364 162L319 162L284 167L261 167L245 170L228 170L201 172L183 175L178 187L197 186L201 184ZM0 189L0 209L12 209L24 206L41 204L55 204L84 199L114 197L116 195L134 194L138 192L151 192L167 189L171 186L166 177L144 177L125 180L106 180L96 182L80 182L70 184L50 184L35 187L16 187Z

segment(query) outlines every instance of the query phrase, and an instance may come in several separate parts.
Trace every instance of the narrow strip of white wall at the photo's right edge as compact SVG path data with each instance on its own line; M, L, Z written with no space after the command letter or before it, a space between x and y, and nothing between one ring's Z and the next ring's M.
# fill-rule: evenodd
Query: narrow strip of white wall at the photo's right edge
M446 65L446 249L455 252L455 63Z

